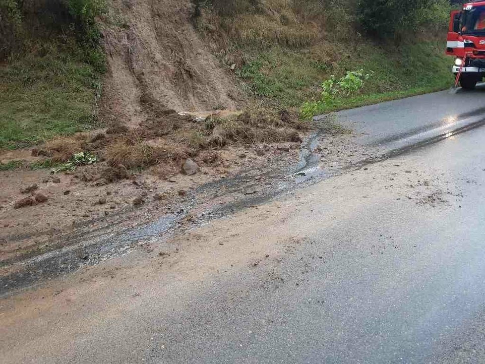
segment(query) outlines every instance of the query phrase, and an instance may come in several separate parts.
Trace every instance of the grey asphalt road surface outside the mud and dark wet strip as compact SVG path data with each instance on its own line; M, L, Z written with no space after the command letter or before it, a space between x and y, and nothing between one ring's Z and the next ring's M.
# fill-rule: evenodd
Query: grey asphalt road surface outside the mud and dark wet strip
M0 361L485 363L484 145L450 135L5 298Z

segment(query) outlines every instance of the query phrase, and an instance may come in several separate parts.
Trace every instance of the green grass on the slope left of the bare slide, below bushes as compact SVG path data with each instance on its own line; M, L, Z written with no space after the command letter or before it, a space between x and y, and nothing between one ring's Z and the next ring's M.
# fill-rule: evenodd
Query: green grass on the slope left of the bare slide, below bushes
M92 129L100 89L100 74L90 63L54 47L0 66L0 149Z

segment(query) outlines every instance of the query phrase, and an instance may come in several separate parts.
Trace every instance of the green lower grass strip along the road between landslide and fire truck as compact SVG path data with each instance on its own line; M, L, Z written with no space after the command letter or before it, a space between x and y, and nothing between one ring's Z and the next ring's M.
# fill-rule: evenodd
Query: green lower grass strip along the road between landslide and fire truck
M320 46L322 47L322 46ZM246 50L247 61L237 75L247 93L275 108L299 107L319 97L319 84L331 74L348 70L374 71L361 93L335 100L319 113L368 105L444 89L451 85L453 60L444 55L443 42L378 46L370 42L342 44L332 52L317 46L306 50L273 47Z

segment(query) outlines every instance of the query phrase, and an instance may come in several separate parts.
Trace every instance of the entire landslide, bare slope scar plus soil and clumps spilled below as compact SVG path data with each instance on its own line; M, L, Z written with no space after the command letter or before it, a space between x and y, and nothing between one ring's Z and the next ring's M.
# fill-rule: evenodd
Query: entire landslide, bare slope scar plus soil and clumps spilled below
M197 186L298 158L308 124L294 113L228 117L245 106L242 92L190 23L189 0L110 3L99 108L107 127L0 151L1 166L15 166L0 172L0 266L59 248L66 236L178 213ZM78 153L98 161L55 175L46 168Z

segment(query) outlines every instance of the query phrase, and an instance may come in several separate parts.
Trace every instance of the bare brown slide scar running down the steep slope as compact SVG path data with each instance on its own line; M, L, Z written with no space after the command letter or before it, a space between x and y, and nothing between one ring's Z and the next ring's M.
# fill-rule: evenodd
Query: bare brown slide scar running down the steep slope
M112 7L120 24L103 26L106 115L136 125L146 117L143 97L179 112L242 106L235 78L192 26L189 0L115 0Z

